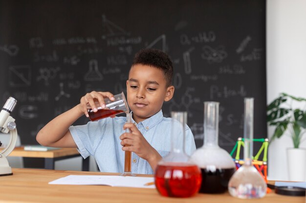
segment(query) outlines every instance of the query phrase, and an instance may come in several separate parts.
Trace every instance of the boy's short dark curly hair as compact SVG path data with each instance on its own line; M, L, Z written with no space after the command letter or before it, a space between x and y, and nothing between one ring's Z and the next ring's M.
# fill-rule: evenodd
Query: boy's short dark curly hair
M171 85L173 65L169 55L166 53L157 49L141 49L138 53L136 53L132 66L136 64L152 66L162 70L165 76L167 87Z

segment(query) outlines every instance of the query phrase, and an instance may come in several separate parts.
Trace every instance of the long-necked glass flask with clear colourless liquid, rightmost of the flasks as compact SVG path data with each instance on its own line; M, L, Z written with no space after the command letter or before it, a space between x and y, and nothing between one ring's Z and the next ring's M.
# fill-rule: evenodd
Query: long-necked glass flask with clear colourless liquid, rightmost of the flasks
M228 191L240 199L262 198L266 194L266 183L252 165L254 98L244 98L244 164L232 176Z

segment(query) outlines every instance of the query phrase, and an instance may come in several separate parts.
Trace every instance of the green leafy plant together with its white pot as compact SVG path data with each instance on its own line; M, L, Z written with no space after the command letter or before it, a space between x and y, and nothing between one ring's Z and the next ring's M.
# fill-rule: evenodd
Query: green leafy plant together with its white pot
M293 108L293 103L302 108ZM306 98L281 93L267 107L267 123L275 126L270 142L284 134L291 137L294 148L287 148L289 179L305 181L306 149L300 148L300 144L306 134Z

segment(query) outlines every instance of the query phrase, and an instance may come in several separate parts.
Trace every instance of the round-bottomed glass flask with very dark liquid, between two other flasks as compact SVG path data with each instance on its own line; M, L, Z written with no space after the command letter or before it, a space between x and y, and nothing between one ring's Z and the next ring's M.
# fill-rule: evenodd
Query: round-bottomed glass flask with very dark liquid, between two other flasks
M227 151L218 145L219 102L204 102L204 144L191 156L202 172L201 193L222 193L236 170Z

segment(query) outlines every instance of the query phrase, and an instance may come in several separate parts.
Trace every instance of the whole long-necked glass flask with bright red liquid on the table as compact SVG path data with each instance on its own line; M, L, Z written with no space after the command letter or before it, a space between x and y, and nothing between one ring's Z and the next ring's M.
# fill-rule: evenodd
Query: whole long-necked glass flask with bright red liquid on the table
M155 186L162 196L191 197L201 186L201 171L185 153L187 112L171 112L171 152L157 165Z

